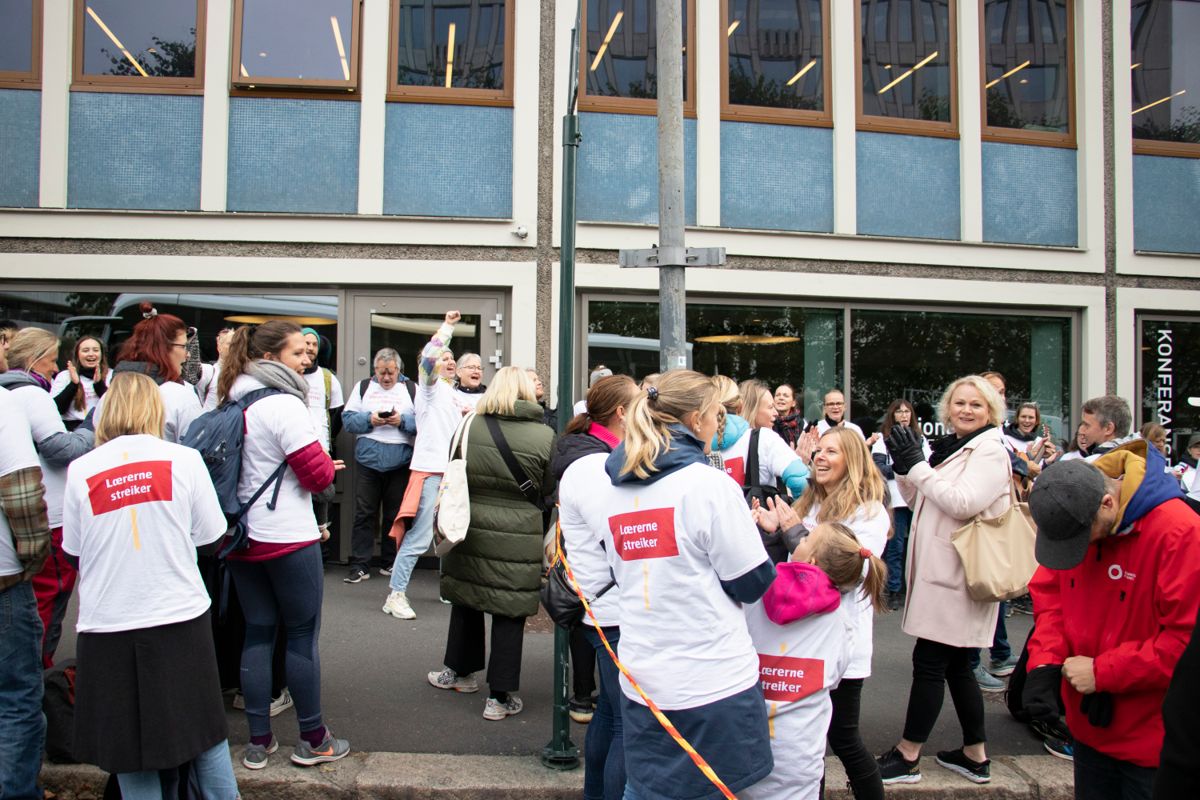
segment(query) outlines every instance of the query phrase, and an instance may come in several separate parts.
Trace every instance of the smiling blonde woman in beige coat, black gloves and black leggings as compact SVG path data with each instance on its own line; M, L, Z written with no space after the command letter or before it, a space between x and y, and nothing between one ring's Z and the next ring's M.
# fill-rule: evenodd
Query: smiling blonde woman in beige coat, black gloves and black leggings
M962 747L937 753L937 763L976 783L991 780L983 693L968 654L991 644L997 604L971 600L950 536L977 515L995 517L1008 509L1012 467L1000 432L1004 407L986 380L967 375L949 385L938 411L950 434L935 443L929 463L908 428L894 427L887 441L900 493L913 510L902 627L917 644L904 736L880 757L884 783L920 780L920 748L941 712L943 686L962 726Z

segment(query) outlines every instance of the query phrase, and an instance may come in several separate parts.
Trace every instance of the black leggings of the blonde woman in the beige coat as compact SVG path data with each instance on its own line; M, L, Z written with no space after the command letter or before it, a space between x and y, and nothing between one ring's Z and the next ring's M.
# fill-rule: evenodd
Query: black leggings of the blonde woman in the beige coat
M988 740L983 724L983 692L970 664L971 648L955 648L930 639L917 639L912 649L912 688L904 738L923 744L929 739L942 711L943 684L949 686L954 711L962 727L962 745Z

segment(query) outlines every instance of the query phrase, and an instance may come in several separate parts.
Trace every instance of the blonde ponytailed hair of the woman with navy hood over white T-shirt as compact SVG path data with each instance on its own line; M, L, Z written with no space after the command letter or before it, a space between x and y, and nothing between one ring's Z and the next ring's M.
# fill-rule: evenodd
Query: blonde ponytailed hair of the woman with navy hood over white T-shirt
M635 397L625 414L622 475L632 473L644 479L656 471L654 462L671 446L667 428L683 425L683 417L694 411L703 413L710 408L718 393L716 379L691 369L664 373L654 390Z

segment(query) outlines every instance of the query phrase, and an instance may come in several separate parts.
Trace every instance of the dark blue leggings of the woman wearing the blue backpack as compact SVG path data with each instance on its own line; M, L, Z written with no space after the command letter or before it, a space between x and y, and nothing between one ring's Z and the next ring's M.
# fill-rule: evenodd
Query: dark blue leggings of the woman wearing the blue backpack
M250 735L271 732L271 661L280 621L288 640L287 685L295 702L300 732L320 727L320 602L324 577L320 545L266 561L229 561L246 616L241 649L241 691L246 696Z

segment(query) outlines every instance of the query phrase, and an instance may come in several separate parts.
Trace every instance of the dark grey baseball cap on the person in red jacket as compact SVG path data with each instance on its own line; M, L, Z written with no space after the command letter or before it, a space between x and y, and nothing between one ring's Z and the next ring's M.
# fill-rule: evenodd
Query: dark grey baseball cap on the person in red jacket
M1038 527L1038 564L1051 570L1079 566L1103 499L1104 475L1087 462L1074 459L1048 467L1030 493L1030 512Z

